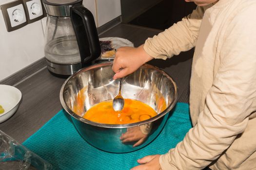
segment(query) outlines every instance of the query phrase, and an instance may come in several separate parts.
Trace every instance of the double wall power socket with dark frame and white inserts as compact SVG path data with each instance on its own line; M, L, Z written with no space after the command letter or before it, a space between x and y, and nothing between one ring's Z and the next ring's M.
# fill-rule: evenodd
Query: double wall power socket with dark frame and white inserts
M2 4L1 11L8 32L46 16L41 0L15 0Z

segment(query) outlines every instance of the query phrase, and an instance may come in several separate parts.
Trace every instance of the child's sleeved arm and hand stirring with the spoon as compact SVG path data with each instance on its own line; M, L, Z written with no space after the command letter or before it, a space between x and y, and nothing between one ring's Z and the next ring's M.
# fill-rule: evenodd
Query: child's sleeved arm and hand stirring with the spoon
M166 59L167 56L171 57L180 51L193 48L206 8L197 7L188 17L184 17L182 21L157 36L148 38L145 44L138 48L119 48L112 67L116 72L113 78L124 77L154 58Z

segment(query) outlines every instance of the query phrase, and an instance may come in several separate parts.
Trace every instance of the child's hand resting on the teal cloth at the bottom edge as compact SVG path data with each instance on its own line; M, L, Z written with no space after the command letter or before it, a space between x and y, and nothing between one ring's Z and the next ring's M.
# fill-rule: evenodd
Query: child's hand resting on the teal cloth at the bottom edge
M159 163L159 154L145 156L138 159L137 162L142 165L132 168L131 170L161 170Z

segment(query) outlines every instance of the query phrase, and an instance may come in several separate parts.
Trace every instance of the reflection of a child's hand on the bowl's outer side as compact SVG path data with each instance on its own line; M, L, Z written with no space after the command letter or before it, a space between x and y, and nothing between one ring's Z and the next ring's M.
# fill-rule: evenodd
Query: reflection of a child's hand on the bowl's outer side
M147 135L143 134L140 131L139 126L127 128L127 132L120 136L120 140L123 143L137 141L133 145L133 147L141 145L146 139L147 139Z

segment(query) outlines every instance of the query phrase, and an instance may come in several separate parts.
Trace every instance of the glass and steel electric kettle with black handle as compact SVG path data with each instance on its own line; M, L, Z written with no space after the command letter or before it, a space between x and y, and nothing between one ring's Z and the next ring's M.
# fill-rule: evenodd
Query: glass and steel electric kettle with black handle
M101 52L92 13L82 0L42 0L47 13L44 54L48 70L69 76Z

